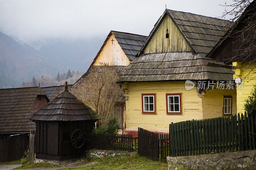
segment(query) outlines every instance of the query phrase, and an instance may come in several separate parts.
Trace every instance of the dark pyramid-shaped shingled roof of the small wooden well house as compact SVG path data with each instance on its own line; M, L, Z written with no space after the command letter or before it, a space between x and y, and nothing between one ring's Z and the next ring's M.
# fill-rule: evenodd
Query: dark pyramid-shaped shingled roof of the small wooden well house
M72 93L68 92L67 88L30 118L33 121L84 121L98 119L102 119L102 117L78 100Z

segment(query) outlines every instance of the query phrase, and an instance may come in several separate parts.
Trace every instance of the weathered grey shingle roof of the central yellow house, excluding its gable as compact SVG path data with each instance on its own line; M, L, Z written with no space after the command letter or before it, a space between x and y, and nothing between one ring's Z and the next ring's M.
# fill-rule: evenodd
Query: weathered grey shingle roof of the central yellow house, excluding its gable
M192 51L143 54L166 16L172 19ZM138 57L120 73L121 82L233 80L234 72L229 66L205 57L220 40L228 23L223 19L166 9L140 49Z

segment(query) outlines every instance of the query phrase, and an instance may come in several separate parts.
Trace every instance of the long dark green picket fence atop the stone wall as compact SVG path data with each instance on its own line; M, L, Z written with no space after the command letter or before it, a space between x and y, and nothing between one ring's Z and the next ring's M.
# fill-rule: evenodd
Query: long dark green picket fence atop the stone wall
M169 155L187 156L256 148L256 114L170 124Z

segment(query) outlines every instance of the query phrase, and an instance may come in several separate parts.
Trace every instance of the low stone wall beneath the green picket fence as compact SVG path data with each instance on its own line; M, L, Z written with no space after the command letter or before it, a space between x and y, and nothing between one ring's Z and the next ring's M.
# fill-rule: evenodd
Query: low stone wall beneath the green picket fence
M167 157L172 169L255 169L256 150Z

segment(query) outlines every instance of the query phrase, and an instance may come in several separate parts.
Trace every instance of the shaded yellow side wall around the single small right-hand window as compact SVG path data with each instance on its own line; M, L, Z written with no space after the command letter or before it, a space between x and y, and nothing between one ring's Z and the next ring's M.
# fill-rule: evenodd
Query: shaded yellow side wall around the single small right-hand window
M203 119L223 116L224 96L232 96L232 115L236 111L236 89L210 89L202 95Z

